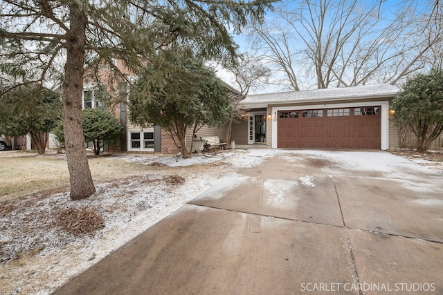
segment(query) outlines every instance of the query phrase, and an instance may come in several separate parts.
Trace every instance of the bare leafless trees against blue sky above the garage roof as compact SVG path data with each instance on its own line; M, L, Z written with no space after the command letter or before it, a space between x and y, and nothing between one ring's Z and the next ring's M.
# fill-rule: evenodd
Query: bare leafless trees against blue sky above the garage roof
M438 65L438 11L435 0L289 1L263 25L249 27L248 39L284 74L280 84L287 90L398 84Z

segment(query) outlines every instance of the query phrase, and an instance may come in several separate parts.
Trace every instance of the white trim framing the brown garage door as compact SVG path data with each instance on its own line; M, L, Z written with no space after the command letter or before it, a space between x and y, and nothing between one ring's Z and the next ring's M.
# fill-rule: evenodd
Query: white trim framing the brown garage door
M278 111L287 110L312 110L312 109L327 109L327 108L352 108L361 106L381 106L381 149L389 149L389 102L354 102L345 104L313 104L309 106L275 106L272 108L272 143L273 149L277 149L277 137L278 137Z

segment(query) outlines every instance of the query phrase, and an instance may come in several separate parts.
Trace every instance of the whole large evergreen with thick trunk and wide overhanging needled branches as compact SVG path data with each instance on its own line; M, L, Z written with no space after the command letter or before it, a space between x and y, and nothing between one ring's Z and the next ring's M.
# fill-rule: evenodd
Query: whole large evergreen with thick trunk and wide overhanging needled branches
M137 73L172 43L192 46L201 58L234 57L237 45L228 28L237 33L247 23L260 23L272 2L0 0L0 83L44 84L62 61L71 199L87 198L95 188L82 132L84 66L99 69L115 57Z

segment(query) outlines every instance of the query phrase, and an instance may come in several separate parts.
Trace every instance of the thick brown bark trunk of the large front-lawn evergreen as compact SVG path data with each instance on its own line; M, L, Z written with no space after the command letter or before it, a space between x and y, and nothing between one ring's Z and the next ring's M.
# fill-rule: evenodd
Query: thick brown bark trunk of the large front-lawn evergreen
M71 182L71 200L88 198L96 191L84 147L82 129L82 91L84 46L86 44L85 13L73 2L70 6L70 28L66 37L66 64L63 84L63 128L66 160Z

